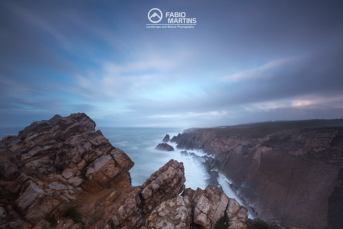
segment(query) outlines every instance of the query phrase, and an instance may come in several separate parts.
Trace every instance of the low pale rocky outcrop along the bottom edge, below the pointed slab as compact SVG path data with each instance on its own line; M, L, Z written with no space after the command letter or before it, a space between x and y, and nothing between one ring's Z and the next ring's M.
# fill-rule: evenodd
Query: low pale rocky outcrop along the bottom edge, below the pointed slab
M230 229L246 228L247 208L221 193L219 188L187 188L181 196L157 206L146 219L145 228L211 229L223 215L228 216Z

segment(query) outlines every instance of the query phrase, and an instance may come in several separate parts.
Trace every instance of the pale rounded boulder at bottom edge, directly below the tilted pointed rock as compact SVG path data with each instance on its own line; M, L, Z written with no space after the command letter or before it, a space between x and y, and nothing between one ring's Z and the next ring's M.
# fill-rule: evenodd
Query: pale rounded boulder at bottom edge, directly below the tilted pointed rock
M192 223L192 209L188 197L178 196L159 204L148 219L145 228L188 229Z

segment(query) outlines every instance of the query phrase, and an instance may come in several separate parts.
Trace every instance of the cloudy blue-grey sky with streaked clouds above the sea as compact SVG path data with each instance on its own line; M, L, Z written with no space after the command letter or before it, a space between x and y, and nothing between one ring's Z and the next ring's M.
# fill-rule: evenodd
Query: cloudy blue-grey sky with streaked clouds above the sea
M148 12L195 28L146 28ZM158 24L158 23L157 23ZM343 118L343 1L0 1L0 127Z

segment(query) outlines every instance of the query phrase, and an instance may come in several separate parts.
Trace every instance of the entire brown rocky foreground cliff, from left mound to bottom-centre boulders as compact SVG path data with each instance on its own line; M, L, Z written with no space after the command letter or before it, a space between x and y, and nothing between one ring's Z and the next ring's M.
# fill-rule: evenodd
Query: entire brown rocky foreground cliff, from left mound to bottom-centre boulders
M131 159L85 113L33 122L0 142L0 228L246 228L247 209L219 188L186 189L170 160L131 186ZM179 195L182 193L182 195Z

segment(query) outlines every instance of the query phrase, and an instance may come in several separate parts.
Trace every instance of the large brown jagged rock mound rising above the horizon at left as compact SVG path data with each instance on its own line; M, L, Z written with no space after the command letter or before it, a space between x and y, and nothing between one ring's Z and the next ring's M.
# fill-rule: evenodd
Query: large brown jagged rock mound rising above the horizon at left
M129 186L133 162L95 126L85 113L56 115L1 140L1 190L11 196L19 193L7 207L15 206L24 223L35 225L47 215L60 217L65 208L76 207L76 199L83 196L80 186L91 192L113 182ZM20 223L10 218L8 225Z

